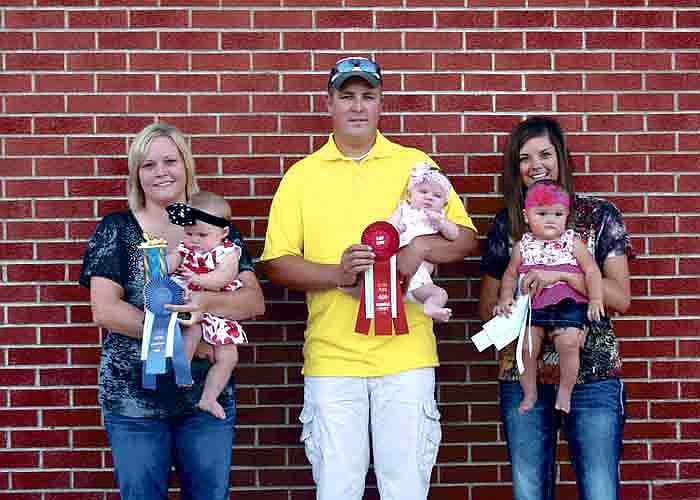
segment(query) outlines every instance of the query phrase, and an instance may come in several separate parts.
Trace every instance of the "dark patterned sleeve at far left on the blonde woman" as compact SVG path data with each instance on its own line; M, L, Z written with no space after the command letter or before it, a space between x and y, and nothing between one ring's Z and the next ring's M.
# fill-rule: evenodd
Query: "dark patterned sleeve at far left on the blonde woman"
M124 286L124 248L120 236L122 225L119 214L108 215L97 225L95 233L87 242L80 270L78 281L84 287L90 288L90 279L93 277L107 278Z

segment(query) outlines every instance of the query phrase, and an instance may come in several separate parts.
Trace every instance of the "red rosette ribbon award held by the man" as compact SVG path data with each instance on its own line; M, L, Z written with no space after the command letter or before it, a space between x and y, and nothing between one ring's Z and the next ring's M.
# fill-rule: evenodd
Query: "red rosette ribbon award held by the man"
M399 232L388 222L374 222L364 230L361 241L372 247L375 258L374 265L365 271L355 331L367 335L374 320L375 335L391 335L394 330L406 334L408 323L396 266Z

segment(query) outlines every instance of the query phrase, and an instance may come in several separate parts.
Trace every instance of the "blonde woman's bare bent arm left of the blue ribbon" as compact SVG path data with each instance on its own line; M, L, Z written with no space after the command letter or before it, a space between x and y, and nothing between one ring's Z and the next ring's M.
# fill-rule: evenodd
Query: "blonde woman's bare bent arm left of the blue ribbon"
M141 338L144 312L123 298L124 289L114 281L97 276L90 278L93 321L103 328Z

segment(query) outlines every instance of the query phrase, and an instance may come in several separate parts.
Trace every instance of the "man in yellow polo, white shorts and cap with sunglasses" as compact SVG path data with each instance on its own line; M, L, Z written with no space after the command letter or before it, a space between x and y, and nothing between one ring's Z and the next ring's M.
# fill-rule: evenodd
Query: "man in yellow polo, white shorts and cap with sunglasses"
M375 335L373 327L356 333L358 301L339 287L355 285L374 262L372 248L359 244L363 230L392 214L413 166L434 162L378 131L382 76L375 62L339 60L327 99L333 133L282 179L261 258L271 281L306 292L301 439L318 500L362 498L370 432L382 500L425 500L441 438L432 320L406 304L407 335ZM458 225L457 239L421 236L403 247L402 282L424 260L459 261L475 248L474 225L454 190L446 216Z

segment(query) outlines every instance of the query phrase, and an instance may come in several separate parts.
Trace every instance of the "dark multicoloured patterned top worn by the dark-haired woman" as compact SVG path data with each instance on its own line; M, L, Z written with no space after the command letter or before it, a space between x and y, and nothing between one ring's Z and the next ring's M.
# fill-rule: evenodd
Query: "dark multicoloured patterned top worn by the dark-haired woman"
M603 263L607 257L633 255L622 214L609 201L576 195L574 213L570 221L572 229L587 242L588 249L594 255L603 276ZM481 259L482 273L501 280L508 266L512 247L507 212L502 210L496 215L486 239ZM498 378L501 380L519 380L515 363L515 344L511 343L500 352ZM610 318L605 317L601 321L592 322L581 350L577 383L618 377L621 367L620 353ZM538 380L540 383L552 384L559 381L559 354L549 342L545 342L542 349Z

